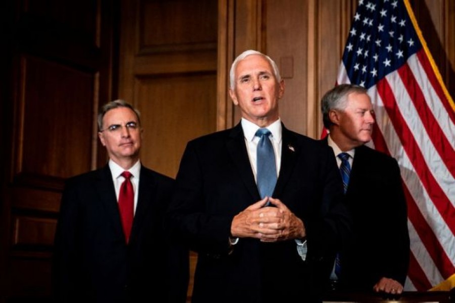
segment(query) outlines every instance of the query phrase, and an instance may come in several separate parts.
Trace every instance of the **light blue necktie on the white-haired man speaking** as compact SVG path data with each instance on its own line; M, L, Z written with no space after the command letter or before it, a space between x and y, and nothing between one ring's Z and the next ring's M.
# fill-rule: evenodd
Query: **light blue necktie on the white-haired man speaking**
M265 196L270 197L277 183L277 167L275 163L275 152L269 136L270 131L266 128L259 128L255 136L259 137L257 144L257 188L261 199ZM268 203L267 203L268 205Z

